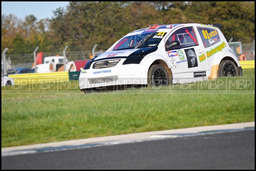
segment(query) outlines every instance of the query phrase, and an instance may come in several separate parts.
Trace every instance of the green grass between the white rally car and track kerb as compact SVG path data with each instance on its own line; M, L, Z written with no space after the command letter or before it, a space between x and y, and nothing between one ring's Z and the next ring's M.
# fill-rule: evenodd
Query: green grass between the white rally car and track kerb
M255 118L254 69L240 78L90 94L77 85L2 87L2 147Z

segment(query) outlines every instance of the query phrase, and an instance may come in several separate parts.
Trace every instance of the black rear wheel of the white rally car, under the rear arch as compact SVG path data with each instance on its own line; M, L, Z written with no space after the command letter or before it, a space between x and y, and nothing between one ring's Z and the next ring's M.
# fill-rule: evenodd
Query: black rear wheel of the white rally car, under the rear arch
M218 77L234 77L238 76L235 63L229 60L222 61L219 66Z

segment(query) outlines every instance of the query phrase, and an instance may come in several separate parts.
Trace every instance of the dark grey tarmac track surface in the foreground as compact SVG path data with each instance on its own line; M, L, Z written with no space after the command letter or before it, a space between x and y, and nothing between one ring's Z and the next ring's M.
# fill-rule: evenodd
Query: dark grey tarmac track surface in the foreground
M255 130L2 156L2 169L255 169Z

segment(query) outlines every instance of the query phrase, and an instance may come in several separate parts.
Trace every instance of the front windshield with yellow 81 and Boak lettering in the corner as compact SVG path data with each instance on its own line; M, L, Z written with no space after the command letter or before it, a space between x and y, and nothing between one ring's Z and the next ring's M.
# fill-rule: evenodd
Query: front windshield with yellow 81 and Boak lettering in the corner
M144 43L142 43L138 48L156 47L158 46L158 44L166 34L166 32L160 32L157 30L146 30L141 34L127 36L127 37L124 37L122 40L120 40L116 44L116 46L113 48L113 51L124 50L124 49L134 49L136 45L141 41L141 39L145 38L147 35L150 35L151 33L154 33L154 34L149 39L147 39Z

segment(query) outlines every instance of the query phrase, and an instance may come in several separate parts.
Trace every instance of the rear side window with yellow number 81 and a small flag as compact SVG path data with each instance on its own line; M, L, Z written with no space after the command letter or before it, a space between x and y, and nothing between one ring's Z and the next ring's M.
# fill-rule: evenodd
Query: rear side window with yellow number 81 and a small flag
M212 46L220 41L219 33L216 29L210 27L197 27L204 48Z

